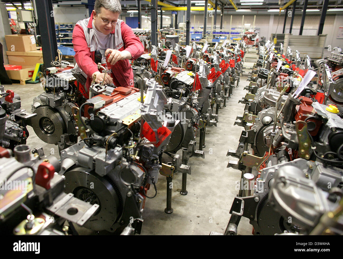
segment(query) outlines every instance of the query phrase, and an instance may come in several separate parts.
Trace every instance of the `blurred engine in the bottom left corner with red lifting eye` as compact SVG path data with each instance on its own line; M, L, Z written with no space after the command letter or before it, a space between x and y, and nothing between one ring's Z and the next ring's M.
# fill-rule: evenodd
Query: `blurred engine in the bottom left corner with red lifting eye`
M76 235L73 224L82 226L99 208L63 192L65 178L56 173L56 157L40 159L27 145L16 145L13 154L0 150L2 234Z

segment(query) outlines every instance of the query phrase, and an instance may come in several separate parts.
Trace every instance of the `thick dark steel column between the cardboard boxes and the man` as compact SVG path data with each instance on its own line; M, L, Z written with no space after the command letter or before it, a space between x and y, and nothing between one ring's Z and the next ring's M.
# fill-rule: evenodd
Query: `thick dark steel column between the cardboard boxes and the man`
M57 39L55 31L54 10L52 0L36 0L37 20L42 41L44 67L51 67L50 63L57 56Z

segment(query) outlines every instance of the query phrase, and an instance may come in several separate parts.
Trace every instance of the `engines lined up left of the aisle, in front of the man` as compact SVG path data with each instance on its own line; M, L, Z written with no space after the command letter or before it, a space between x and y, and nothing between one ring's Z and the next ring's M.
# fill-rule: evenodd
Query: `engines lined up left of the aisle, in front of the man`
M168 183L165 212L173 212L169 183L182 173L180 193L187 195L188 161L205 158L206 127L217 126L218 111L243 73L244 51L226 44L152 46L132 62L129 87L93 81L89 91L80 68L59 54L40 74L44 92L33 99L32 113L21 109L13 91L0 88L0 183L20 186L0 188L3 233L77 234L73 224L140 233L158 174ZM41 146L31 152L27 125L58 145L60 160ZM163 153L172 162L163 163Z

